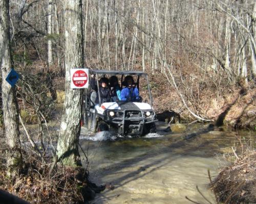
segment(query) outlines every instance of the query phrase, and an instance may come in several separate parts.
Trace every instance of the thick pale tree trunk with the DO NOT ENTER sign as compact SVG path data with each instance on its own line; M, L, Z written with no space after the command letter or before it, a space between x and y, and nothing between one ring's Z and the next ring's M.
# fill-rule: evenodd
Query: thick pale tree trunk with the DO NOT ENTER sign
M63 0L65 16L65 102L61 118L59 139L57 144L58 161L64 165L81 165L78 152L80 135L80 119L82 107L82 90L71 89L70 69L83 67L83 29L81 0Z

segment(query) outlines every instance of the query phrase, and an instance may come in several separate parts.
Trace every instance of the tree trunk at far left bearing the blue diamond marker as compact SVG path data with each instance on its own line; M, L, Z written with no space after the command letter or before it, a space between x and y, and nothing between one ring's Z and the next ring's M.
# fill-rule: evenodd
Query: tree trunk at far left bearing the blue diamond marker
M0 0L0 68L6 143L10 147L7 165L22 162L20 153L18 104L15 87L5 80L11 70L9 0ZM10 169L12 171L12 169ZM15 170L15 169L13 169Z

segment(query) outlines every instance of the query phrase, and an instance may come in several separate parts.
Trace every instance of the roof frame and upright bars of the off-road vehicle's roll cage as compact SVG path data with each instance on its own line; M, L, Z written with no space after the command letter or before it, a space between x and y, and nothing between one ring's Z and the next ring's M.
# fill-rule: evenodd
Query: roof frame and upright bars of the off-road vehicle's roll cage
M95 74L96 75L96 80L97 80L97 88L99 90L99 78L104 77L104 75L109 74L109 75L121 75L121 83L123 82L123 76L124 75L137 75L137 88L139 90L139 81L140 77L144 78L147 81L147 88L148 92L150 94L150 105L152 107L152 95L151 95L151 90L150 90L150 83L148 82L148 77L147 73L142 72L142 71L136 71L136 70L129 70L129 71L120 71L120 70L100 70L100 69L89 69L89 73ZM86 89L87 91L87 89ZM100 93L98 91L98 96L99 96L99 106L101 106L101 98L100 98Z

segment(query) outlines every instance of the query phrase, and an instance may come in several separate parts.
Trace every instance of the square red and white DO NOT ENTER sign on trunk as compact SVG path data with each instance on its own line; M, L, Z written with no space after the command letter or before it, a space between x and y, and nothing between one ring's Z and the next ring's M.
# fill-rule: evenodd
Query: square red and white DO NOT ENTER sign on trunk
M88 88L89 85L89 70L88 69L71 69L71 88L83 89Z

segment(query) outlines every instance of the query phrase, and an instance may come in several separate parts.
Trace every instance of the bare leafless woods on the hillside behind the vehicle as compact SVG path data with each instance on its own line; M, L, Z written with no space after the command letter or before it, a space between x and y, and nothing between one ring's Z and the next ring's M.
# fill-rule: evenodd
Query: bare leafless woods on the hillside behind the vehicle
M255 98L253 0L89 0L82 11L85 66L146 71L157 112L217 119L241 89ZM62 1L10 1L10 15L16 67L65 75Z

